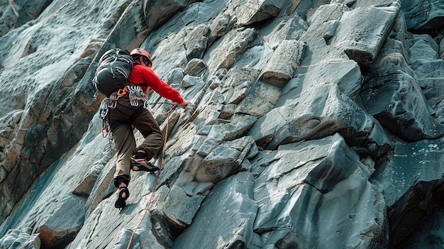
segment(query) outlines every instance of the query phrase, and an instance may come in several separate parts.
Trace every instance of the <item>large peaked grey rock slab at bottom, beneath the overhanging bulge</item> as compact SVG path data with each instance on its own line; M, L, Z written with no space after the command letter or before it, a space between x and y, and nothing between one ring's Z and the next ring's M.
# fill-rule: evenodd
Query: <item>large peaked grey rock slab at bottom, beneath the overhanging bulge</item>
M255 232L264 239L262 248L387 245L384 198L368 182L372 169L340 135L281 146L253 167L267 162L255 181Z

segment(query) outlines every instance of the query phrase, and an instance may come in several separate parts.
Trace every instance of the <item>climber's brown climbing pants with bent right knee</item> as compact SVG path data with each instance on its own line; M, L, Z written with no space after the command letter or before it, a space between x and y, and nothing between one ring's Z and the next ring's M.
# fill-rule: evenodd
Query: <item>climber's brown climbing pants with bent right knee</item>
M163 145L164 135L160 131L159 125L150 111L143 108L143 101L138 102L138 106L132 106L128 94L126 94L118 99L115 109L109 109L109 126L118 151L116 173L114 174L116 187L120 182L126 184L130 182L130 157L135 155L137 150L145 150L146 160L150 160ZM135 145L133 127L137 128L145 138L138 147Z

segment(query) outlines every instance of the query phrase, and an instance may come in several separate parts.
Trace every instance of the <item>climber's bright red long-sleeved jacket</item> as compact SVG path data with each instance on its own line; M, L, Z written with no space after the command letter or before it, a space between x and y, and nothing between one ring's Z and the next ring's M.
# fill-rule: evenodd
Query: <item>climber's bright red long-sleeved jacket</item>
M177 104L182 103L184 99L180 96L179 92L172 89L169 84L163 82L154 71L152 71L151 67L145 67L143 65L134 65L133 69L130 72L130 76L128 77L128 83L132 85L140 85L143 92L146 92L148 87L151 87L157 94L160 96L170 99L171 101L176 102Z

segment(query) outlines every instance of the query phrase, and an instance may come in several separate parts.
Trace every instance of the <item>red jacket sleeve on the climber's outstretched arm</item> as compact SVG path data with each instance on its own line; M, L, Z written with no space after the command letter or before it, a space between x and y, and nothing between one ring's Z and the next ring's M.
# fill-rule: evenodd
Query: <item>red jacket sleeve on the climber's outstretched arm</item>
M169 84L163 82L150 67L145 67L145 82L147 82L148 87L151 87L157 94L160 96L170 99L171 101L180 104L184 101L182 96L180 96L179 92L172 89Z

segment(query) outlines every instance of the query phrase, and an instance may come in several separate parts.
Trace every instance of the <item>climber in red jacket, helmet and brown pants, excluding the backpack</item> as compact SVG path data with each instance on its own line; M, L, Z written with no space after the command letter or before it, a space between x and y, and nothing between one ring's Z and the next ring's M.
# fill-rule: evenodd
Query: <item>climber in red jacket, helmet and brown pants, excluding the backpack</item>
M182 99L179 92L157 77L151 69L152 60L146 50L136 48L131 52L131 57L135 60L128 77L128 83L131 86L113 93L113 99L117 103L114 108L109 109L107 115L114 145L118 151L114 174L114 185L118 188L114 206L118 209L126 206L126 199L130 194L128 191L131 179L130 170L147 172L159 170L148 161L162 148L164 135L150 111L145 109L145 106L148 106L146 96L152 91L157 92L160 96L179 104L182 109L191 104L190 101ZM143 99L145 102L137 101ZM138 147L135 144L133 127L137 128L145 138Z

